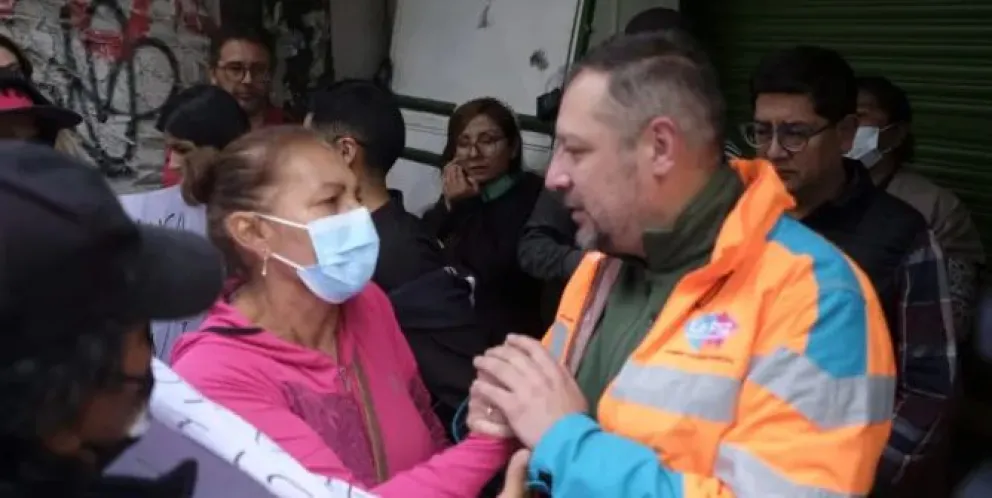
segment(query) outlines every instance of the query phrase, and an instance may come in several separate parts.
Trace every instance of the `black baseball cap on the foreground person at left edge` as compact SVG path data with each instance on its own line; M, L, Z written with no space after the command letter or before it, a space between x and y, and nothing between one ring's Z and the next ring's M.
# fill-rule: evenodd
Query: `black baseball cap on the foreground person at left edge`
M186 317L210 306L223 277L209 241L136 224L96 169L0 141L0 326Z

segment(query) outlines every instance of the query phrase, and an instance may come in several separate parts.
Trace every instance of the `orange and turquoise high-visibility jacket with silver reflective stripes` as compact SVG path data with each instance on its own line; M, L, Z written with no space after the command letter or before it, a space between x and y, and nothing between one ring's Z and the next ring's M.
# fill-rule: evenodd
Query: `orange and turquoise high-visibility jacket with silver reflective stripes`
M895 400L878 299L839 249L785 214L793 201L768 163L733 165L747 188L710 262L678 282L589 400L598 424L568 416L534 448L532 477L556 498L869 492ZM618 264L588 255L544 338L573 372Z

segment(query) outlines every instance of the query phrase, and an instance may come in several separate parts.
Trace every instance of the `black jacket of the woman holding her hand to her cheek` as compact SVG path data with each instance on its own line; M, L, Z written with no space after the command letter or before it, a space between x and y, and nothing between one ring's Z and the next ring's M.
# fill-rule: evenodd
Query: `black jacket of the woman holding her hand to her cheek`
M444 245L449 261L476 279L475 310L490 344L513 333L539 337L541 283L520 269L517 244L544 180L519 173L501 195L455 204L439 199L424 214L428 229Z

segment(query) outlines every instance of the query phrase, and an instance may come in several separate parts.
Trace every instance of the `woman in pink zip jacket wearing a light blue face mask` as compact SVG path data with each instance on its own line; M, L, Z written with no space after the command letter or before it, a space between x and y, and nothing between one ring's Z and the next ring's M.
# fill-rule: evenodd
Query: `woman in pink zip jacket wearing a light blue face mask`
M445 449L389 301L369 283L379 239L343 160L356 147L266 128L188 165L186 198L207 206L237 285L176 344L173 368L312 472L383 497L475 497L512 443L471 435Z

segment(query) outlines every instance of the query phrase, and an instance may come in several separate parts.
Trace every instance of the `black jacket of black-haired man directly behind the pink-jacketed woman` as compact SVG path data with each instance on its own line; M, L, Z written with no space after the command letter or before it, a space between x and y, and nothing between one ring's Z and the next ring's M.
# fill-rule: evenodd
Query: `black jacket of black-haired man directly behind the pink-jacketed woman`
M403 208L399 192L372 213L379 261L372 279L389 296L396 320L446 430L475 379L472 359L485 352L472 286L445 263L441 244Z

